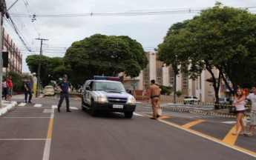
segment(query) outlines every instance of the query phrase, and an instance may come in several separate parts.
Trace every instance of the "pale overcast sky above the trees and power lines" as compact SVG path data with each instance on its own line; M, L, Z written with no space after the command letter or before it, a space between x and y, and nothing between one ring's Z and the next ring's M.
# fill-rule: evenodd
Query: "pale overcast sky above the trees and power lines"
M16 0L6 0L10 7ZM221 0L230 7L250 7L256 13L255 0ZM26 44L39 54L40 41L44 41L43 54L63 57L73 41L99 33L107 36L129 36L142 44L145 51L154 51L163 42L172 24L198 15L197 10L213 7L214 0L19 0L9 13ZM189 13L189 8L191 13ZM196 10L196 11L194 11ZM145 15L159 11L158 15ZM169 14L163 14L168 11ZM137 16L123 13L139 12ZM85 13L84 16L78 16ZM92 16L88 16L92 13ZM102 16L97 15L102 13ZM116 13L109 16L108 13ZM32 21L33 14L36 20ZM30 15L30 16L29 16ZM66 15L66 16L65 16ZM73 15L72 17L68 17ZM31 55L10 24L4 19L4 28L23 55L22 71L29 72L25 59Z

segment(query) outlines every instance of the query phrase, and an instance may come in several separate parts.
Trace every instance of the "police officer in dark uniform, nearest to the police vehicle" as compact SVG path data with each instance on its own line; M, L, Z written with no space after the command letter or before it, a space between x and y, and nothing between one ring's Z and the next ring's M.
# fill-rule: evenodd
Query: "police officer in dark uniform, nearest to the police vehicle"
M68 76L63 75L63 80L59 82L59 84L56 84L56 88L58 88L60 92L60 99L59 99L59 104L58 104L58 112L60 112L59 108L62 106L63 99L65 98L66 100L66 107L67 107L67 112L71 112L69 109L69 92L72 90L73 86L72 84L67 81Z

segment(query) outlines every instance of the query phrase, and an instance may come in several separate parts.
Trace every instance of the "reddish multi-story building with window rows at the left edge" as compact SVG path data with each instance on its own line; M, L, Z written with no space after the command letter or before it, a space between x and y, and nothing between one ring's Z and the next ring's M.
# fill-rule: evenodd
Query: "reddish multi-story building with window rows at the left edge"
M22 53L16 47L16 44L10 39L9 34L3 28L2 31L2 50L7 51L9 53L8 59L8 67L3 68L3 75L5 76L6 73L10 70L13 70L16 73L22 74Z

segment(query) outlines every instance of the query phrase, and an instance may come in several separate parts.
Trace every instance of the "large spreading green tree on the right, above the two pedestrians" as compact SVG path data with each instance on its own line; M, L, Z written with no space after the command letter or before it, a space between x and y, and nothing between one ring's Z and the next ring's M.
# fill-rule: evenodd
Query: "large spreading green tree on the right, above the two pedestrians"
M217 4L202 10L194 19L174 24L158 46L158 59L174 67L180 65L180 70L191 79L197 79L202 70L208 70L218 102L220 79L233 94L238 86L256 82L255 70L249 69L255 66L256 59L255 23L256 16L248 10ZM189 70L188 65L191 65ZM218 75L211 71L214 68L220 71Z

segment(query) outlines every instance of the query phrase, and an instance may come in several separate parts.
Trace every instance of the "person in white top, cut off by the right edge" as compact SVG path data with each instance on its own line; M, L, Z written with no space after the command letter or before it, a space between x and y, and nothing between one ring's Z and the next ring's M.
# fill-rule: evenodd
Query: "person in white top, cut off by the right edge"
M256 84L252 86L252 93L249 94L249 96L246 97L250 101L252 101L252 110L250 113L250 119L251 119L251 124L250 124L250 130L249 133L246 133L246 136L252 136L253 130L255 130L255 125L256 125Z

